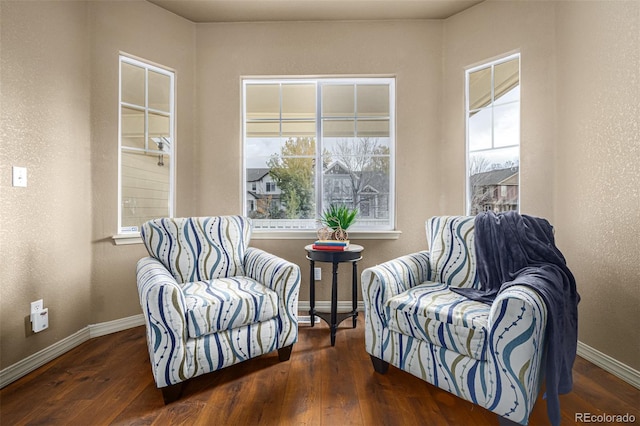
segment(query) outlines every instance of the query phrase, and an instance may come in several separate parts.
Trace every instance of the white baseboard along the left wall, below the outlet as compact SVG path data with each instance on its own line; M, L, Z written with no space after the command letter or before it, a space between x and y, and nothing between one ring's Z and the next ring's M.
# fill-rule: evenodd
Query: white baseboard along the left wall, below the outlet
M73 333L71 336L48 346L33 355L29 355L23 360L16 362L0 370L0 389L9 383L15 382L21 377L26 376L33 370L42 367L46 363L53 361L60 355L69 352L76 346L81 345L87 340L95 337L104 336L106 334L127 330L144 324L142 314L134 315L127 318L121 318L114 321L103 322L100 324L90 324L85 328Z

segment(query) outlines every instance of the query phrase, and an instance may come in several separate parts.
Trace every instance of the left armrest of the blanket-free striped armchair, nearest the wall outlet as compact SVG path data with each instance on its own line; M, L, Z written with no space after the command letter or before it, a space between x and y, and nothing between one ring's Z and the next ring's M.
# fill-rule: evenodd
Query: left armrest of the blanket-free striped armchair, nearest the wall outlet
M136 276L156 385L161 388L182 382L195 371L186 353L188 330L182 288L152 257L138 261Z

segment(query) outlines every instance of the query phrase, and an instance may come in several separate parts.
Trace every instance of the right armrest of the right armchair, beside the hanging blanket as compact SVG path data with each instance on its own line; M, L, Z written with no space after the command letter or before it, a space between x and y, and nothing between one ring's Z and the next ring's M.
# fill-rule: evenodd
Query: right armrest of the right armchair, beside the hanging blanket
M531 287L510 286L493 301L487 324L489 364L495 369L489 410L519 423L529 418L543 376L546 324L546 304Z

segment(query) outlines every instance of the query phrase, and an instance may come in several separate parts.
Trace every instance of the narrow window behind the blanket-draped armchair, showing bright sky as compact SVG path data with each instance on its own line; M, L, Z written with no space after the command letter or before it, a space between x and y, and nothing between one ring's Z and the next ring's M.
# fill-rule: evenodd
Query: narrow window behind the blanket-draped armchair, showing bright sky
M520 54L466 71L467 214L519 210Z

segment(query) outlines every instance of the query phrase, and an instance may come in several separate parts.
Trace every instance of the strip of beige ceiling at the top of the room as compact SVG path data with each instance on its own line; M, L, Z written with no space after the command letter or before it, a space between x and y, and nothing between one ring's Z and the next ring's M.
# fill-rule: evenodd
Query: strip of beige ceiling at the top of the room
M483 0L148 0L193 22L444 19Z

